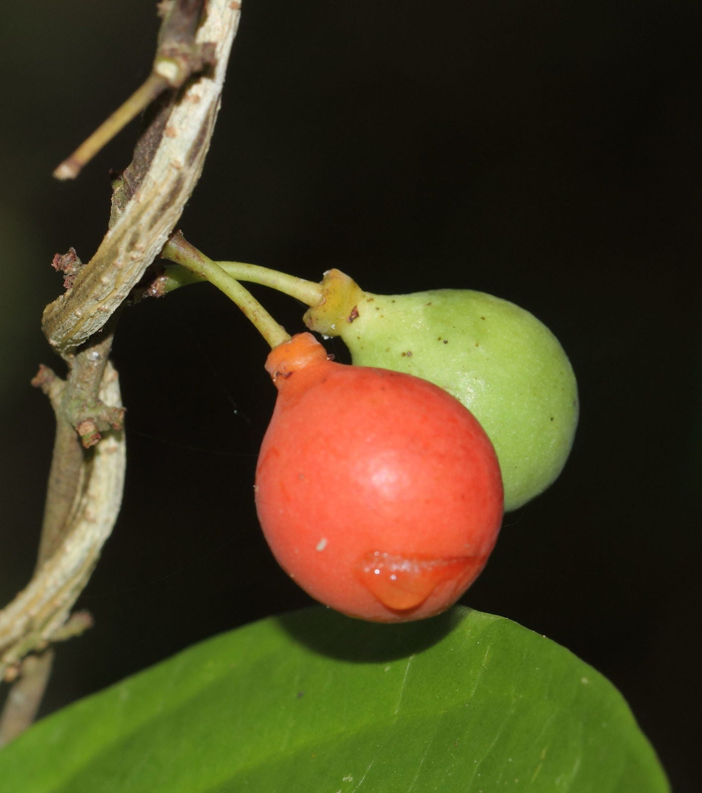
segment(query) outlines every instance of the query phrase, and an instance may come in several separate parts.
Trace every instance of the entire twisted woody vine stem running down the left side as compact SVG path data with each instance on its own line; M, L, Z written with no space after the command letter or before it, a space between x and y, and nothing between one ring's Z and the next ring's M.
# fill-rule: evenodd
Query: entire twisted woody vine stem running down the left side
M44 367L35 378L56 412L56 447L33 578L0 611L0 680L20 674L2 723L6 718L29 724L48 679L49 661L44 674L22 677L39 668L25 656L44 653L51 642L89 624L86 615L71 616L71 609L117 519L125 473L119 383L108 359L115 313L163 247L198 182L239 21L239 3L232 0L209 0L201 21L203 2L161 4L159 53L186 63L182 90L163 94L148 109L134 159L113 185L109 231L93 259L71 271L67 292L44 312L44 334L69 374L62 381ZM205 56L213 69L188 82ZM23 686L31 698L15 695Z

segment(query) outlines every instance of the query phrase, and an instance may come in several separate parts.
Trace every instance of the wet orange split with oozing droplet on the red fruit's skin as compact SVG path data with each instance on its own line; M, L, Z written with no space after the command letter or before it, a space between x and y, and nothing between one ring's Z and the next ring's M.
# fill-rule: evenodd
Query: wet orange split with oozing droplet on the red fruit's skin
M355 575L385 607L409 611L424 603L439 584L464 580L470 566L480 569L474 557L422 559L373 551L356 562Z

